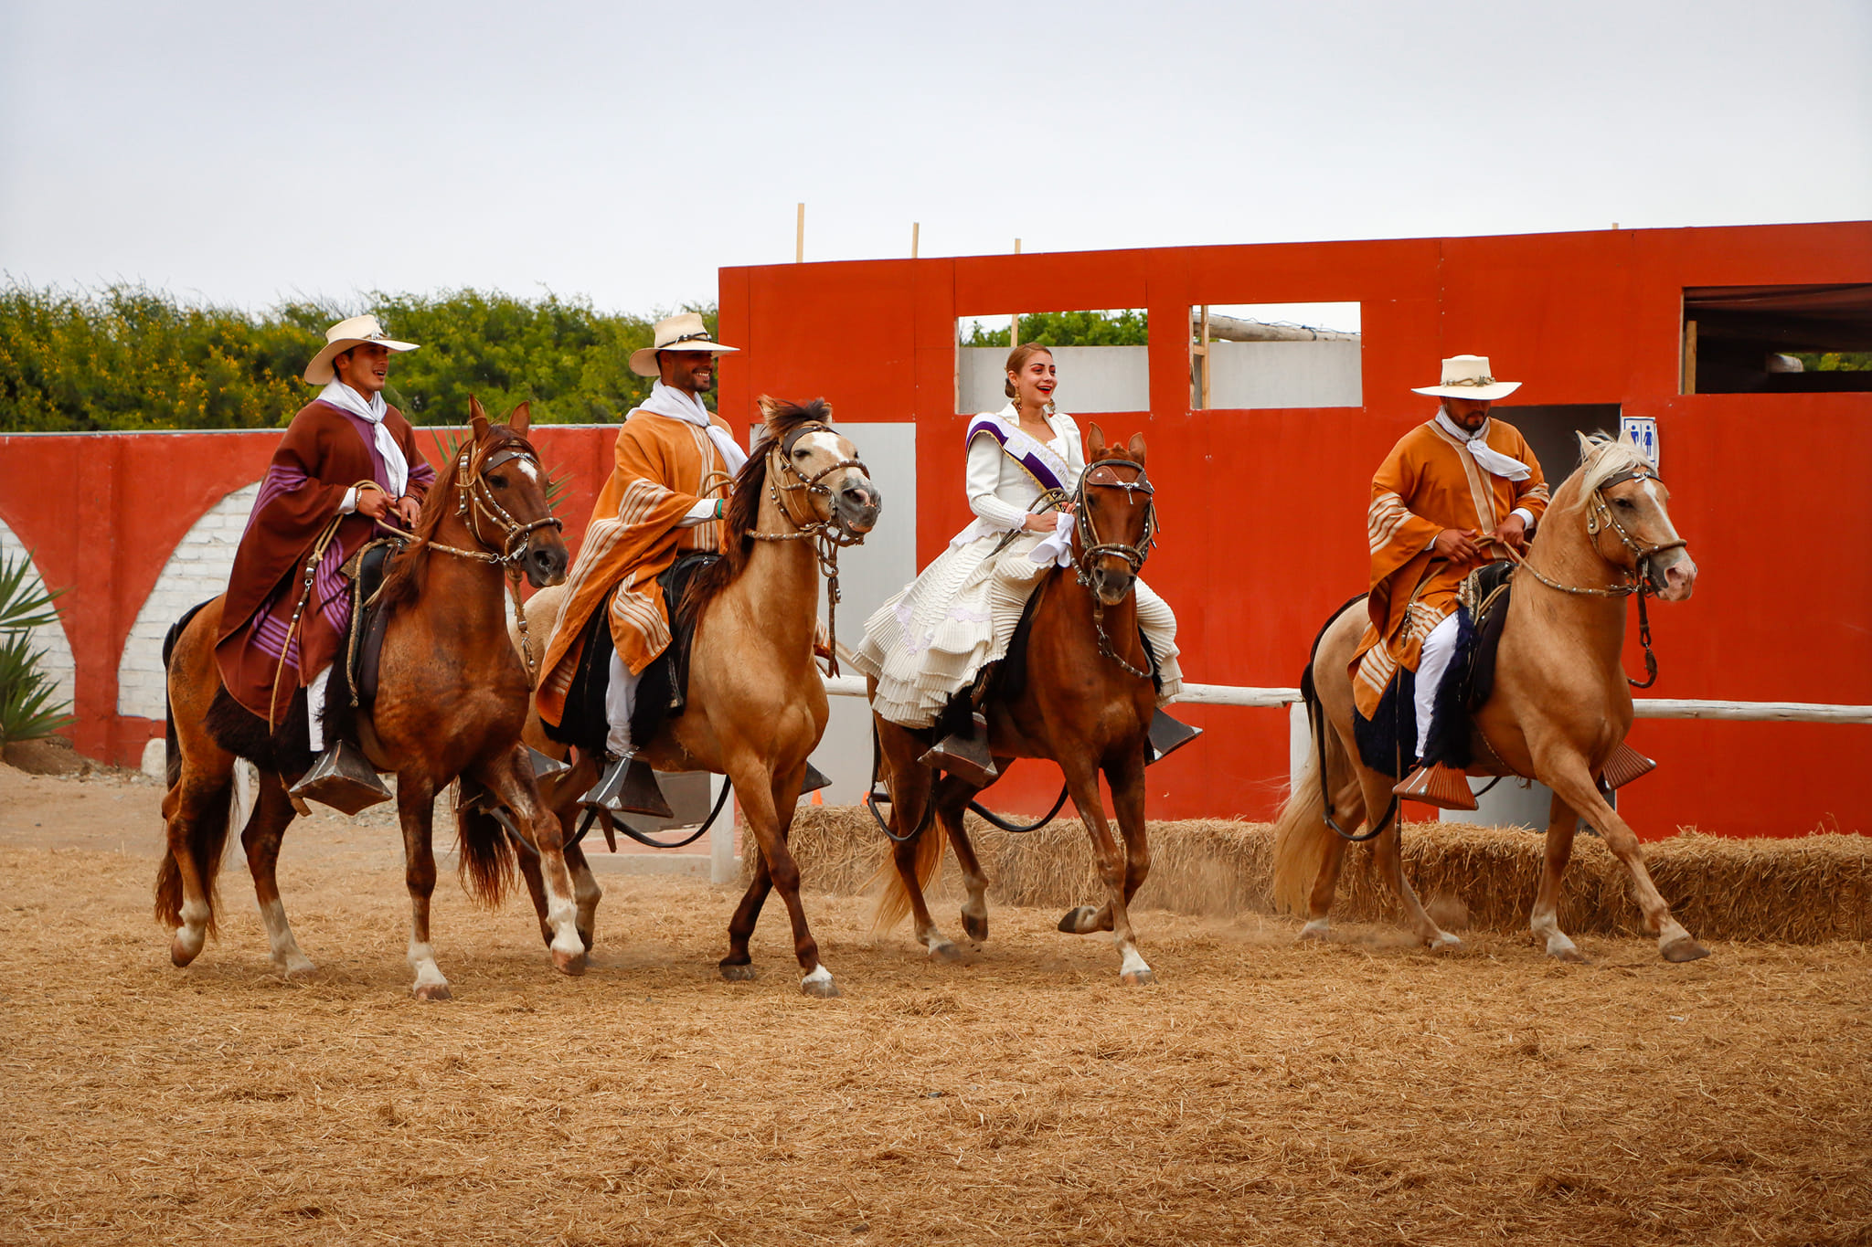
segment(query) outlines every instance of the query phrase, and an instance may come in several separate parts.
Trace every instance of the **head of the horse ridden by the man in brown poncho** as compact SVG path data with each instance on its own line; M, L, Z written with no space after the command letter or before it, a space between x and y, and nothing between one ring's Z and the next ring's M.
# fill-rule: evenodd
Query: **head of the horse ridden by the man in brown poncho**
M532 409L522 402L505 424L492 424L481 402L470 396L472 441L464 447L468 475L461 488L475 540L509 565L517 563L534 589L545 589L565 580L571 553L560 535L563 525L552 518L552 503L547 501L539 452L526 439L532 423Z

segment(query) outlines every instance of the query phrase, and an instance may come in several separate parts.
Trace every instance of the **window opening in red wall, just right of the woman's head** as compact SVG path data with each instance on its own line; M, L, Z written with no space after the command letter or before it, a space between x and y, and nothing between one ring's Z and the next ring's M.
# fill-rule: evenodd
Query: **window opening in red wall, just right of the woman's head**
M1189 310L1194 409L1365 404L1357 303L1204 303Z

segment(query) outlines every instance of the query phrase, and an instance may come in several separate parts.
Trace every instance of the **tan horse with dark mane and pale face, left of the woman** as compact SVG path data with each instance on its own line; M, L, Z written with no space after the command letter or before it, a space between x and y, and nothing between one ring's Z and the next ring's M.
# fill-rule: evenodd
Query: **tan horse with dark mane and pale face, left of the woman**
M638 744L638 757L657 770L711 770L728 776L745 826L760 845L754 879L728 924L721 976L754 978L747 940L769 888L781 890L794 924L794 952L811 996L837 996L831 970L799 905L799 866L786 847L794 808L805 783L807 757L826 731L826 684L812 658L818 624L820 563L837 544L878 523L882 495L857 451L831 428L824 400L760 400L766 439L754 447L723 520L723 559L698 572L683 598L695 619L689 652L687 709ZM543 654L558 623L563 591L535 593L528 630ZM565 755L539 716L528 742ZM565 860L577 877L578 929L592 946L593 914L603 892L584 851L573 843L578 796L599 774L599 757L580 750L575 765L545 780L541 791L565 828ZM528 864L522 864L526 867ZM528 873L532 882L532 873ZM535 892L535 907L545 897ZM545 910L541 909L545 924Z

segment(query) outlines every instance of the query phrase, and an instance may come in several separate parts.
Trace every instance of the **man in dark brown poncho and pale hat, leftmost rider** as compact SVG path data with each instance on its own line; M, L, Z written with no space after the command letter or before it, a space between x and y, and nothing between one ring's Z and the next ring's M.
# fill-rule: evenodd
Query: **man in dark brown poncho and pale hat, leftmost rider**
M350 623L339 568L380 525L412 525L436 479L410 423L384 402L391 351L412 350L388 338L374 316L326 331L305 368L305 381L324 389L273 452L221 608L221 682L268 727L305 688L314 753L326 748L326 681Z

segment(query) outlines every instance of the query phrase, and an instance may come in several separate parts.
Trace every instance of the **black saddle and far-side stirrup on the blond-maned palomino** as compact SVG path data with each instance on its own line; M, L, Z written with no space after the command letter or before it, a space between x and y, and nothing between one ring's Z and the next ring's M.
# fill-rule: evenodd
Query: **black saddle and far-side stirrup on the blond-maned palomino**
M1430 735L1425 738L1425 765L1447 763L1468 770L1475 763L1473 746L1481 742L1490 761L1503 767L1475 729L1475 712L1496 692L1496 652L1501 647L1501 630L1507 626L1513 587L1514 565L1484 563L1470 572L1456 591L1456 652L1441 688L1436 690ZM1655 761L1621 740L1606 761L1599 785L1610 793L1655 768Z

